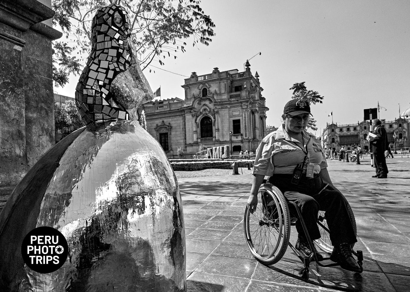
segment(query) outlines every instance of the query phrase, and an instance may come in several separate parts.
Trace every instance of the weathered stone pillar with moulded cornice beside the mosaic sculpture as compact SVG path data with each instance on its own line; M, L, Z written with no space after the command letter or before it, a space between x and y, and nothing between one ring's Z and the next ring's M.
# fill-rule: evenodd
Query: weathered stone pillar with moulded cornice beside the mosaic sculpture
M0 197L55 144L54 14L51 1L0 1Z

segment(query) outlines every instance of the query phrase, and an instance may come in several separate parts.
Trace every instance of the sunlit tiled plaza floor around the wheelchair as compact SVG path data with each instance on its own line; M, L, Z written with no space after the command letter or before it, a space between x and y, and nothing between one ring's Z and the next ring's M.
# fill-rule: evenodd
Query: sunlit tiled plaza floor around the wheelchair
M273 266L257 262L243 232L251 175L178 179L183 200L189 292L410 291L410 158L387 159L389 177L372 178L362 164L330 160L335 186L351 204L358 227L355 249L364 271L310 265L310 279L290 248ZM239 171L240 173L240 171ZM291 243L296 242L292 227Z

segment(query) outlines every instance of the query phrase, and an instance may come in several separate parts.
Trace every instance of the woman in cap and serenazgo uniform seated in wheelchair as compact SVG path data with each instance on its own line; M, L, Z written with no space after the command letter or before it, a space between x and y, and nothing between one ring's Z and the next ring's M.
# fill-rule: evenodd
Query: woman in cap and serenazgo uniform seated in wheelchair
M286 103L282 119L285 121L270 133L256 150L253 167L253 183L248 199L251 213L256 210L257 194L264 177L276 186L289 201L301 209L301 215L312 240L321 234L317 225L318 211L326 211L333 252L332 261L345 270L360 272L361 267L352 256L351 245L357 242L355 230L348 211L348 202L332 184L327 170L326 157L321 142L305 130L309 121L310 106L303 100L293 99ZM325 185L328 184L326 188ZM323 189L324 188L324 189ZM304 236L301 220L296 221L298 239L296 249L303 255L316 254Z

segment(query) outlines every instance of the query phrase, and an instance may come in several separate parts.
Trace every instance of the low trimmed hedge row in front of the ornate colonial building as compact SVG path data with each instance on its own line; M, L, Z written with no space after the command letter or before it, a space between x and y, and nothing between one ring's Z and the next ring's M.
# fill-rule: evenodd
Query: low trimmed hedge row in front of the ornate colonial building
M173 159L174 160L174 159ZM205 160L205 159L202 159ZM208 168L230 169L235 161L197 161L197 162L171 162L174 171L198 171ZM248 167L248 164L253 167L252 160L238 161L238 167Z

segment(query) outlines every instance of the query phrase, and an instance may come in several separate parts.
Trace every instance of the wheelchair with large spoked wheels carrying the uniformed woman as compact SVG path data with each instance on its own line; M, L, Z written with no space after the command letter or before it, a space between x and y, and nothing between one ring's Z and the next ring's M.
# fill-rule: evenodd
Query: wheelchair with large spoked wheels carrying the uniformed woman
M289 246L303 263L303 269L300 270L299 275L305 281L309 279L309 265L312 261L316 261L321 267L339 265L334 262L321 263L317 260L316 253L314 252L309 256L304 256L289 242L291 225L295 225L296 220L301 220L305 238L310 245L310 249L313 250L314 245L316 245L322 252L331 254L333 245L330 242L324 211L319 211L317 218L321 238L312 241L307 232L300 208L295 202L288 201L276 186L270 183L262 184L258 190L257 198L257 209L251 213L247 205L244 215L246 243L257 261L266 266L273 265L282 258L287 246ZM289 211L289 206L292 208L292 214ZM348 205L348 212L356 235L356 221L350 205ZM353 246L354 244L351 245L352 253L358 259L357 262L360 265L361 273L363 272L363 253L360 250L355 252ZM329 259L330 257L324 257L323 261Z

